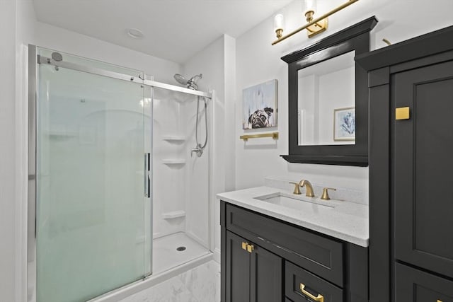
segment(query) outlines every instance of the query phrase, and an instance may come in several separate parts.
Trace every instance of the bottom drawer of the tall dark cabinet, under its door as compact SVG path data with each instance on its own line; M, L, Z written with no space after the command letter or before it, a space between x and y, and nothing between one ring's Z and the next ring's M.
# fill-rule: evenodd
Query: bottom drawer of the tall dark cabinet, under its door
M395 301L453 302L453 281L396 263Z

